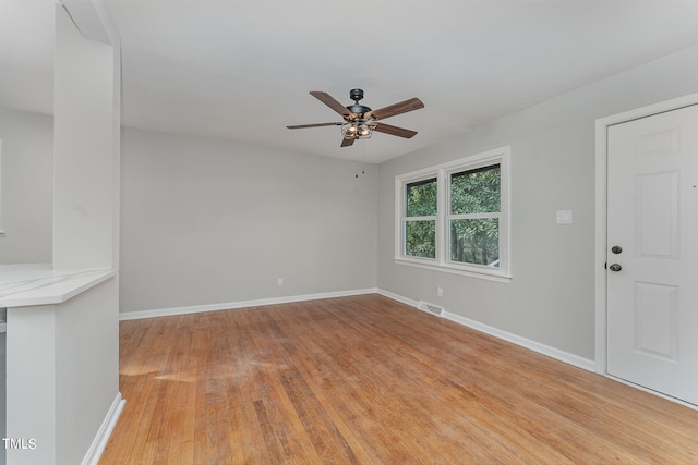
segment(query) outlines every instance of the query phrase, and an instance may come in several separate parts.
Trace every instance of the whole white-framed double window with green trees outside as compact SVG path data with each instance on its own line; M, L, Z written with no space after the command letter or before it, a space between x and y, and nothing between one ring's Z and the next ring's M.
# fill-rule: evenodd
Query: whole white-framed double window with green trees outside
M508 281L508 152L397 176L395 260Z

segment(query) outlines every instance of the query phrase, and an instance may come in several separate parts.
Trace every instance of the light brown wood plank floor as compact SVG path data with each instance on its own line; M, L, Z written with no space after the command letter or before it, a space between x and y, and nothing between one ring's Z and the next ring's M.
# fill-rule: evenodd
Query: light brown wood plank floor
M378 295L120 325L101 465L698 463L698 412Z

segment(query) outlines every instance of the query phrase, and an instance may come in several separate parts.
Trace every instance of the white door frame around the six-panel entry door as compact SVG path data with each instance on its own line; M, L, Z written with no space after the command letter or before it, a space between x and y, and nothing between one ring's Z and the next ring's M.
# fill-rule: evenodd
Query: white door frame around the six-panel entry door
M698 93L689 94L684 97L678 97L672 100L662 101L660 103L641 107L635 110L625 111L623 113L613 114L597 120L597 156L595 156L595 250L594 250L594 265L595 265L595 356L594 356L594 371L599 375L603 375L618 381L622 381L615 377L612 377L607 372L606 355L607 355L607 328L606 328L606 203L607 203L607 170L606 163L609 160L607 154L607 127L614 124L625 123L640 118L651 117L653 114L663 113L666 111L677 110L679 108L698 105ZM623 382L623 381L622 381ZM627 383L627 382L626 382ZM631 384L638 387L637 384ZM642 388L640 388L642 389ZM643 389L645 390L645 389ZM664 395L647 390L657 395L664 397ZM675 399L666 396L676 402ZM683 402L679 402L684 404ZM690 404L684 404L689 405ZM696 406L691 406L696 408Z

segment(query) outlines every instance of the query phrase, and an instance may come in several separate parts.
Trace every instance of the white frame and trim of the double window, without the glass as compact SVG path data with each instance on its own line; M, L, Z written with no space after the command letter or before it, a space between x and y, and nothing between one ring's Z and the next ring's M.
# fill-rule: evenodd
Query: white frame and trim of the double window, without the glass
M509 152L510 147L501 147L482 154L472 155L447 163L400 174L395 178L395 257L394 261L449 273L481 278L492 281L512 280L510 231L509 231ZM489 166L500 166L500 212L477 215L450 215L450 175ZM412 257L405 255L406 187L408 184L436 178L436 257ZM497 218L500 224L500 266L488 267L477 264L452 261L449 257L449 220L465 218ZM416 220L417 218L410 218Z

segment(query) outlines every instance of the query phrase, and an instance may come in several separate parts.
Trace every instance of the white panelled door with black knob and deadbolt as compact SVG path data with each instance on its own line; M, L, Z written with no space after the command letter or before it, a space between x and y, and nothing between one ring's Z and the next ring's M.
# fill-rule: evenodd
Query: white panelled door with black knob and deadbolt
M698 404L698 106L607 131L607 372Z

